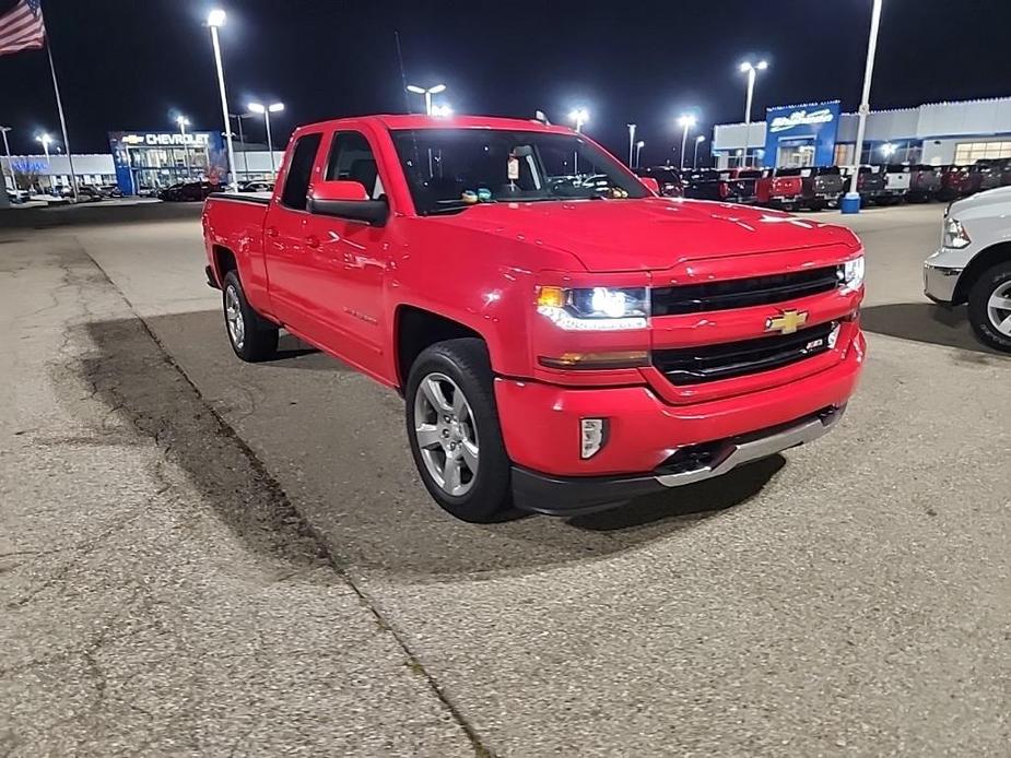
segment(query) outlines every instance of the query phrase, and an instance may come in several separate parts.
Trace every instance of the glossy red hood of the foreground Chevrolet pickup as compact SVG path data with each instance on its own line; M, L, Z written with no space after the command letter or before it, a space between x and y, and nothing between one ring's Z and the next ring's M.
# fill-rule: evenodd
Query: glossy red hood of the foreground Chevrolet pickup
M430 221L562 250L587 271L658 271L678 263L859 242L846 228L741 205L647 198L489 203Z

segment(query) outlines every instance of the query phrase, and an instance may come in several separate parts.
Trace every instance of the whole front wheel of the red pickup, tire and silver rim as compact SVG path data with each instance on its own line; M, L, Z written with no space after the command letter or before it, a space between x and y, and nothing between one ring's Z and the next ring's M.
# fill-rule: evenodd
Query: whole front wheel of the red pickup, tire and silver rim
M425 488L474 523L496 521L512 507L493 381L481 340L448 340L418 356L404 392L408 439Z

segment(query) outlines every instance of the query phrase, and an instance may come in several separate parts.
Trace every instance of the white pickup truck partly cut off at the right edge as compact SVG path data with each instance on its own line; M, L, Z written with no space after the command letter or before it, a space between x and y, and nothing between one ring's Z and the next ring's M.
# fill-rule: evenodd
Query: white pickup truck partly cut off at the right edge
M924 285L934 303L967 303L977 336L1011 353L1011 187L948 208L941 247L927 259Z

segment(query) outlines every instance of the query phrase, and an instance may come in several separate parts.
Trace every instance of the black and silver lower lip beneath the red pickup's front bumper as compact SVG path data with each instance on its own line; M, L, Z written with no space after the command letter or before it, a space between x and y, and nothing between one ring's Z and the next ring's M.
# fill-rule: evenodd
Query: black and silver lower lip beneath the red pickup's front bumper
M745 463L813 442L832 430L845 411L845 405L828 406L771 429L717 440L704 446L704 457L689 457L639 476L551 476L514 467L513 497L517 506L537 513L591 513L644 495L722 476Z

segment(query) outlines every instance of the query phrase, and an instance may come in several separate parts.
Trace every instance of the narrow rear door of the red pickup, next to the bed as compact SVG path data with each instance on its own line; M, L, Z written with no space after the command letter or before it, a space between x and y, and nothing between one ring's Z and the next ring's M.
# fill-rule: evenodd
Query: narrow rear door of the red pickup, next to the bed
M274 315L285 327L309 339L315 339L310 286L314 271L306 246L306 204L321 142L321 132L309 132L292 145L283 183L271 200L263 228L268 292Z

